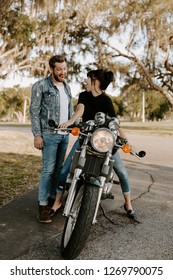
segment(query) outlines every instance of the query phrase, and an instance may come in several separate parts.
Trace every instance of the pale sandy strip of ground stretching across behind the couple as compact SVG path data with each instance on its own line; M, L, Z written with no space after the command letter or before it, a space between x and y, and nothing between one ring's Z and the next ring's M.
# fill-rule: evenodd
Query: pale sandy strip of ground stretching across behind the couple
M145 150L147 155L142 162L173 167L173 122L122 122L129 142L134 148ZM70 135L67 153L76 137ZM41 156L34 148L33 135L29 127L5 127L0 125L0 152ZM133 156L122 153L125 160L136 161Z

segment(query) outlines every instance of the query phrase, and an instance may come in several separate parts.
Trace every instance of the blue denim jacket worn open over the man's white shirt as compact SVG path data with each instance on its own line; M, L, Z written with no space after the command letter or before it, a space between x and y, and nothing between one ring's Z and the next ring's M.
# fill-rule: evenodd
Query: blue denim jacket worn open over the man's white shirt
M68 96L68 109L70 119L73 114L71 89L64 82L64 89ZM63 104L61 104L63 106ZM50 129L48 120L53 119L59 124L60 118L60 96L59 90L53 84L51 75L36 82L32 86L30 118L32 133L34 136L42 135L44 131Z

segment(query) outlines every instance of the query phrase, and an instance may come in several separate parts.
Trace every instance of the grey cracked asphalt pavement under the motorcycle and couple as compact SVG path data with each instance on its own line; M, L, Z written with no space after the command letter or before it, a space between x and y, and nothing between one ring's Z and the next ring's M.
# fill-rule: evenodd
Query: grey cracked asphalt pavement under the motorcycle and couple
M126 216L120 186L105 200L78 260L173 259L173 167L125 161L137 220ZM37 221L37 188L0 208L1 260L61 260L65 218Z

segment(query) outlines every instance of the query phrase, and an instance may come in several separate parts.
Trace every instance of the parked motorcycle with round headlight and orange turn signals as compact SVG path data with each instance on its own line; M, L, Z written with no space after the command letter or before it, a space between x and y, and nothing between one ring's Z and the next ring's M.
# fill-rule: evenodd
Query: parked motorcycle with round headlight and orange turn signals
M52 120L49 125L59 129ZM114 198L111 188L117 182L113 178L112 155L122 149L137 158L145 156L145 151L134 152L127 140L119 136L119 127L117 118L98 112L94 120L65 129L79 134L80 148L75 150L66 181L66 222L60 246L64 259L75 259L80 254L92 225L97 222L101 200Z

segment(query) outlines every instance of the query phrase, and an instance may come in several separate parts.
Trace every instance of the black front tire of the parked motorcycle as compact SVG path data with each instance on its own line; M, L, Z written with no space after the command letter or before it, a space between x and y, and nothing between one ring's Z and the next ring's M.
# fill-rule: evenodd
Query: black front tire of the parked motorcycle
M72 206L73 217L68 217L61 239L61 255L64 259L75 259L82 251L90 234L96 209L99 187L83 185Z

